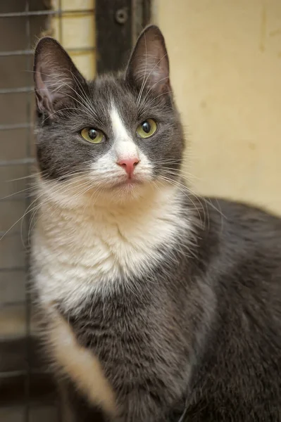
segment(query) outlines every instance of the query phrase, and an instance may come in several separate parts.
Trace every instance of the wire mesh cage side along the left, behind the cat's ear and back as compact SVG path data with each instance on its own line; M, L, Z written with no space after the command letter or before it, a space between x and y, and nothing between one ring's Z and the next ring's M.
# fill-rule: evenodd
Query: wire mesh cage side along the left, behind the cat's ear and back
M82 18L86 45L69 35ZM33 335L27 286L35 167L33 47L42 34L53 35L78 65L86 60L92 77L93 32L94 1L0 2L0 421L61 419L56 389Z

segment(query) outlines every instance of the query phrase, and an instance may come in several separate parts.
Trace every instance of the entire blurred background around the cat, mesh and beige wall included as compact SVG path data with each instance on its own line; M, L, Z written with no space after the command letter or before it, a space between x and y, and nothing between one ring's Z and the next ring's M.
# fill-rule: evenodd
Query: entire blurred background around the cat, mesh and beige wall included
M193 190L281 215L280 0L1 0L0 421L61 419L28 290L34 46L56 37L92 78L122 68L149 22L166 37Z

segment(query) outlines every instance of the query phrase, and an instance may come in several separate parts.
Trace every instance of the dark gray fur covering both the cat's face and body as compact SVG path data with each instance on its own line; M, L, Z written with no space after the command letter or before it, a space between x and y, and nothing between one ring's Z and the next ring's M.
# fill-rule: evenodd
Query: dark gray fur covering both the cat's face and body
M145 33L148 43L150 37L156 39L158 49L166 51L158 28ZM63 183L70 172L107 151L111 126L106 104L112 98L131 134L142 120L156 118L154 142L142 141L139 147L151 162L169 159L175 170L180 168L182 128L169 82L137 104L143 41L144 34L125 77L86 82L76 75L78 86L73 79L73 89L80 95L84 91L94 107L92 120L73 98L61 96L55 104L49 97L39 98L37 157L46 179ZM35 70L44 60L44 43L39 41ZM163 75L165 60L159 70ZM42 106L44 101L48 107ZM65 106L73 109L51 115L51 109ZM93 125L104 131L106 143L93 147L80 139L80 129ZM169 171L172 165L167 167ZM165 163L155 165L156 178L163 168ZM170 178L177 179L175 174L171 171ZM120 404L114 422L174 422L185 404L186 422L281 421L281 219L230 201L199 202L188 196L182 199L182 214L187 217L194 205L198 215L192 250L183 233L182 248L163 245L161 263L132 280L135 290L115 283L118 288L107 297L96 293L87 298L78 315L63 302L58 310L78 342L99 357ZM177 264L172 266L171 260ZM70 381L65 383L77 422L106 420Z

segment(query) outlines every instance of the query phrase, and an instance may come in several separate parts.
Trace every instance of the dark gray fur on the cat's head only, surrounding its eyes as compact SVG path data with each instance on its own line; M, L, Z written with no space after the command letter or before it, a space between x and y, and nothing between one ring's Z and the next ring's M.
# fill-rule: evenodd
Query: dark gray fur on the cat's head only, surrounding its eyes
M105 75L92 82L86 82L75 66L69 62L70 58L61 46L59 46L60 54L58 54L58 46L57 41L46 37L39 41L35 52L37 159L44 177L61 178L63 181L68 174L78 172L81 168L85 169L87 165L111 148L113 134L108 105L112 101L118 104L128 132L135 137L135 142L151 162L173 159L169 165L163 165L163 167L155 165L155 174L159 174L161 169L166 167L179 169L183 149L182 127L177 111L173 108L168 79L165 79L164 91L163 81L160 82L162 91L159 91L158 84L154 81L151 82L152 85L147 85L144 91L144 94L147 94L146 101L137 103L141 82L139 74L134 75L133 72L129 72L131 67L128 68L126 77ZM163 44L163 54L165 51ZM131 58L132 62L135 60L134 57L133 55ZM165 57L165 59L166 63L163 65L167 67L168 58ZM150 63L153 72L156 70L157 63L158 60L156 63L155 61ZM161 61L159 64L162 64ZM68 68L65 69L66 65ZM143 70L145 72L145 68ZM147 72L149 73L149 68ZM42 77L38 77L41 73ZM58 84L56 75L61 75L59 79L62 84L59 94L54 95ZM44 77L48 86L39 84L37 81ZM162 79L162 73L158 77ZM151 87L153 88L149 92ZM168 92L167 95L166 92ZM165 95L162 95L163 93ZM90 112L83 103L85 96L91 105ZM136 136L137 126L151 115L158 122L158 130L153 142L151 139L144 140ZM106 135L106 142L92 145L84 141L80 131L85 127L101 129ZM174 141L170 142L170 139ZM170 177L173 177L172 174Z

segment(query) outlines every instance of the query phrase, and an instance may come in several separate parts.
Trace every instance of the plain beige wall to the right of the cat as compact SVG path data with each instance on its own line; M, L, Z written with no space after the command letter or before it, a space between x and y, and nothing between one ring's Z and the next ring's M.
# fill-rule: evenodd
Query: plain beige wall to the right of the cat
M281 1L154 0L194 190L281 214Z

